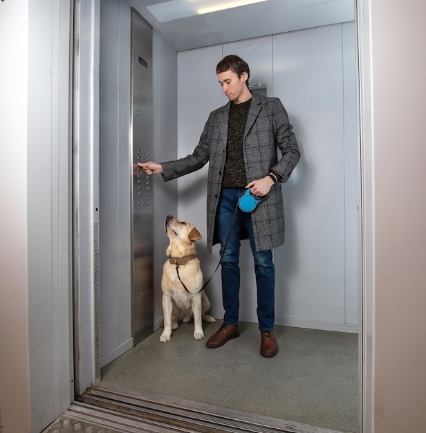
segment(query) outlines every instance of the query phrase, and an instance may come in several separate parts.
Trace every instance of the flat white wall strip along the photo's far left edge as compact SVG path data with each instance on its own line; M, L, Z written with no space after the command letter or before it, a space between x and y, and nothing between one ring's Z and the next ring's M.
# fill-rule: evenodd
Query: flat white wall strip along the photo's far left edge
M26 239L28 4L0 3L0 421L28 432L30 380ZM7 161L7 163L6 163ZM7 185L7 187L6 187ZM21 408L19 416L17 408ZM16 430L15 430L16 429Z

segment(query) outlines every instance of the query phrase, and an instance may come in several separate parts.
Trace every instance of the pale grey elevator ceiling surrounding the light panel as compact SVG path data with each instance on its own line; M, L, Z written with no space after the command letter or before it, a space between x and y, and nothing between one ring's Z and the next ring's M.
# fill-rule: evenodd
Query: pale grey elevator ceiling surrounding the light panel
M126 1L176 51L353 21L355 17L355 0L266 0L203 15L190 15L189 10L204 0ZM221 3L230 6L234 0ZM176 12L183 17L174 19L176 4L184 6Z

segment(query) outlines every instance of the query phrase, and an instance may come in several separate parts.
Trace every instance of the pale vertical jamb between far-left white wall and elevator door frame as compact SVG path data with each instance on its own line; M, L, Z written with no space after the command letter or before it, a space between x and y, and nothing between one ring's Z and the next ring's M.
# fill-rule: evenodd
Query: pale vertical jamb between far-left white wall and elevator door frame
M71 2L28 5L28 329L37 431L73 400Z

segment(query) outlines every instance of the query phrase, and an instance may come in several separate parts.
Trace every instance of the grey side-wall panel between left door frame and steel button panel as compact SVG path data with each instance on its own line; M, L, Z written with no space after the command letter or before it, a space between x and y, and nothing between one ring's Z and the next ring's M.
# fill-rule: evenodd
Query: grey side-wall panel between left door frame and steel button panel
M131 329L131 8L100 5L100 366L133 346Z

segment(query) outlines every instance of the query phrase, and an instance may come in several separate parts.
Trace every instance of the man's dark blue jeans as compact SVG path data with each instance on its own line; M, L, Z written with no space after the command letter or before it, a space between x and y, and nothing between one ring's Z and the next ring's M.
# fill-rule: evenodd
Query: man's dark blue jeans
M240 232L243 228L246 228L254 258L259 329L261 331L272 331L275 321L275 266L272 261L272 250L256 251L250 213L238 209L234 217L235 207L239 196L243 192L245 192L244 189L223 188L216 213L216 234L221 243L221 255L230 231L228 245L221 261L222 300L225 309L223 323L233 325L238 324L239 321ZM234 222L232 223L233 218Z

